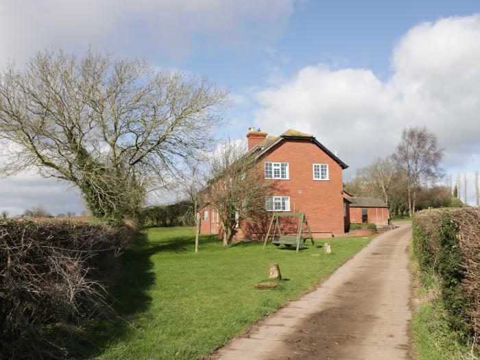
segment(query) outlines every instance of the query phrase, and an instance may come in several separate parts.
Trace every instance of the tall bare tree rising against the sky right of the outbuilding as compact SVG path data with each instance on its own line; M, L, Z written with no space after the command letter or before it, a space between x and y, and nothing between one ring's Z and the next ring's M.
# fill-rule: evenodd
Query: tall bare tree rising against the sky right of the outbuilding
M433 132L429 132L425 127L412 127L403 130L393 156L407 176L409 215L413 216L420 185L433 182L441 175L440 161L443 151Z

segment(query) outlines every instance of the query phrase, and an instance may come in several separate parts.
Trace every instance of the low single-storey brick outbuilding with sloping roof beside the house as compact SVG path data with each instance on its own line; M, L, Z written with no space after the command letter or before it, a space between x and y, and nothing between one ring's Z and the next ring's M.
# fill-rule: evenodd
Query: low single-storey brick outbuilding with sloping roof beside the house
M374 223L377 227L389 224L388 207L376 197L355 197L344 190L344 197L350 202L350 224Z

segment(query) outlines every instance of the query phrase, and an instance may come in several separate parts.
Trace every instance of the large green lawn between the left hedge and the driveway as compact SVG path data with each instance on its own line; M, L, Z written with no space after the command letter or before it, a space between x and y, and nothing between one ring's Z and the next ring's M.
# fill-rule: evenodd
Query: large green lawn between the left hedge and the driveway
M262 317L315 287L371 237L310 241L296 253L269 244L224 248L204 236L193 252L193 228L149 228L123 255L125 275L115 286L115 310L123 320L94 324L83 334L88 357L195 359L248 330ZM320 256L314 256L320 254ZM259 290L267 265L278 263L284 280Z

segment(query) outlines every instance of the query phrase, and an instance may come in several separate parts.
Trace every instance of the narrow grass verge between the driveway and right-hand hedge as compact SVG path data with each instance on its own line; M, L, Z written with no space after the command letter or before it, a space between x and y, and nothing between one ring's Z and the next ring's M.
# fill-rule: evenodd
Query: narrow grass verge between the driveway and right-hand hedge
M410 246L413 249L412 246ZM440 301L440 284L431 274L425 274L410 253L413 273L413 317L410 323L411 352L414 360L479 359L471 348L461 344L444 318Z

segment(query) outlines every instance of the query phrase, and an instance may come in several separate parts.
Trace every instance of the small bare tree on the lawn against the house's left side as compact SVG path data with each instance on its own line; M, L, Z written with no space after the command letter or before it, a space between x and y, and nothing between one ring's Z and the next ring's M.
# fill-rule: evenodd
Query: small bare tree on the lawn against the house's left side
M208 206L219 214L226 246L242 221L265 217L265 197L274 183L265 182L259 159L239 141L226 141L219 146L209 162L209 174L205 196Z

